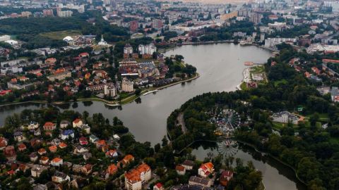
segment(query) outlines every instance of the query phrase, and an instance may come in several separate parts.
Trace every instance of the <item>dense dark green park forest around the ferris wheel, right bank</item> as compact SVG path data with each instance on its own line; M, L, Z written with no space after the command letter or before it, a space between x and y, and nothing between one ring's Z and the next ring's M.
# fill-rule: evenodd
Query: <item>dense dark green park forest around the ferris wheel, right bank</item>
M339 107L328 94L321 96L316 84L288 65L295 57L301 59L300 63L321 65L321 58L328 55L311 56L283 44L280 56L270 58L265 65L267 85L246 91L207 93L187 101L167 119L174 149L182 150L196 140L215 140L215 126L208 122L206 113L217 105L224 106L236 110L242 118L242 125L235 132L237 139L293 167L308 189L339 189ZM272 112L295 112L297 107L303 108L299 115L309 115L307 121L280 128L273 125ZM184 113L189 133L183 134L177 125L179 113ZM321 127L323 124L328 127Z

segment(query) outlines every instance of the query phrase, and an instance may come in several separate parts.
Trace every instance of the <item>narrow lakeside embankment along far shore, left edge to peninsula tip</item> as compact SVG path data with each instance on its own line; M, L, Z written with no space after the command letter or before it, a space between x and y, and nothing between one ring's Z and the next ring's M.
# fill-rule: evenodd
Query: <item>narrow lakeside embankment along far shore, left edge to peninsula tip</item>
M196 72L196 75L194 75L194 77L191 77L189 79L180 80L180 81L177 81L177 82L172 82L172 83L166 84L166 85L161 86L161 87L145 89L145 90L141 91L140 95L136 96L136 94L133 94L132 96L128 96L125 99L122 99L121 101L108 101L108 100L100 99L100 98L87 98L87 99L77 99L75 102L77 102L77 101L100 101L102 103L105 103L107 106L121 106L121 105L124 105L124 104L127 104L127 103L131 103L132 101L138 99L140 96L143 96L143 94L147 93L148 91L165 89L167 87L172 87L174 85L181 84L182 82L189 82L189 81L192 81L192 80L196 80L198 77L200 77L200 75L198 74L198 72ZM52 102L48 102L48 101L23 101L23 102L4 103L4 104L1 104L0 107L20 105L20 104L24 104L24 103L44 103L44 104L49 104L49 105L62 105L64 103L70 103L70 102L74 102L74 101L72 101L72 100L71 101L52 101Z

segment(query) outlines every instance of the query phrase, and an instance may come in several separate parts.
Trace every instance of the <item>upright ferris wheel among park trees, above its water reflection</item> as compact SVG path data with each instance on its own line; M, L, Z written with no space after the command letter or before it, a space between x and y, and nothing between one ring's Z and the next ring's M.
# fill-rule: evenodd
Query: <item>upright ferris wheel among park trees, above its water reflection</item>
M228 132L234 131L235 128L240 125L240 116L239 114L232 109L222 110L222 122L224 125L220 125L220 130L222 133L227 134Z

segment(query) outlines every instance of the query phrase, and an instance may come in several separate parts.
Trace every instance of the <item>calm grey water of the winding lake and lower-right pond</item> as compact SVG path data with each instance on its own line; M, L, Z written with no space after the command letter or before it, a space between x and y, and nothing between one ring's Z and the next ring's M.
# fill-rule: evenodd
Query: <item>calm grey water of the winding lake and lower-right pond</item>
M208 44L199 46L182 46L173 51L167 51L166 56L181 54L184 61L196 66L199 74L197 80L179 84L141 97L141 103L129 103L121 109L110 108L104 103L93 102L90 106L77 103L74 108L82 113L102 113L105 118L117 116L134 134L137 141L150 141L156 144L166 134L166 120L169 114L179 108L184 102L198 94L208 91L233 91L242 80L242 70L246 68L245 61L263 63L267 61L270 52L256 46L239 46L234 44ZM0 125L4 118L13 113L20 113L25 108L35 109L43 105L28 104L25 106L0 107ZM62 109L72 108L71 105ZM203 157L206 156L202 152ZM290 176L291 170L282 165L264 163L254 156L239 150L237 157L252 160L254 165L263 172L266 189L297 189L295 177Z

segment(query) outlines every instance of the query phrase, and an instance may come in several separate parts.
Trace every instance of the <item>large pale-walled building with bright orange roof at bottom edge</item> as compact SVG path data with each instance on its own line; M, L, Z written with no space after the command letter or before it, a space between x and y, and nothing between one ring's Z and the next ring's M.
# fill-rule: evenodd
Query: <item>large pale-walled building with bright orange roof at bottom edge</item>
M147 164L141 164L130 172L125 173L125 188L141 190L142 184L148 182L151 177L151 170Z

